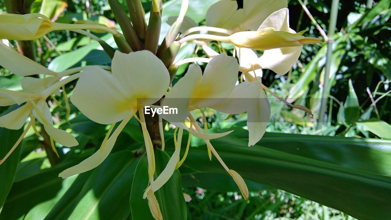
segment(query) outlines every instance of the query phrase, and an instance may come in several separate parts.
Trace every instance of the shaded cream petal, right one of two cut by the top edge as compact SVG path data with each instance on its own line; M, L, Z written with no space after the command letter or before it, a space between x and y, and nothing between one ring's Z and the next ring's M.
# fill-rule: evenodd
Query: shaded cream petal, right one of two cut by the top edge
M287 0L244 0L244 19L240 27L255 31L270 14L287 6Z

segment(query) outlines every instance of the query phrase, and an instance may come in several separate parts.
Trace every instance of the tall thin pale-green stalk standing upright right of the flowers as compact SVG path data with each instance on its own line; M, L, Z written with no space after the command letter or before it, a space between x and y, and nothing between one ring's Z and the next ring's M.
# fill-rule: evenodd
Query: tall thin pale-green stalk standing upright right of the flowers
M330 69L331 69L331 56L333 53L333 42L334 42L334 32L335 25L337 25L337 15L338 15L338 5L339 0L333 0L331 5L331 14L330 14L330 24L328 25L327 32L327 56L326 56L326 67L325 67L325 76L323 80L323 91L322 91L322 102L320 106L319 119L317 123L317 129L322 128L323 123L325 122L325 112L327 108L328 101L328 83L330 81Z

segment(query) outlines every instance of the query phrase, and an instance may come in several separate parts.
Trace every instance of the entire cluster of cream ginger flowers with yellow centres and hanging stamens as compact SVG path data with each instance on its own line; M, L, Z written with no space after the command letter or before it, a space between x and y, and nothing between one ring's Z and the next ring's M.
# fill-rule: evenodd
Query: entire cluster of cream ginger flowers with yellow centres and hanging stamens
M188 1L183 0L182 10L184 12L186 12L187 4ZM156 5L154 4L153 7ZM156 50L139 50L132 47L131 42L128 42L129 44L126 42L129 40L128 38L123 38L121 34L111 29L108 30L102 25L59 24L51 22L41 14L0 14L0 27L3 30L0 33L0 38L2 39L34 40L54 30L99 29L110 32L117 39L119 36L122 41L116 41L120 50L125 42L130 48L129 50L132 51L124 52L122 49L122 52L115 51L111 54L111 67L86 66L64 72L52 72L22 56L11 47L0 43L0 65L13 74L24 77L21 80L23 92L0 90L0 105L22 105L25 103L0 117L0 126L20 129L29 119L25 132L12 150L0 161L0 164L18 146L31 126L40 135L35 127L35 119L42 124L41 129L44 129L50 136L53 150L56 150L54 141L66 147L78 144L73 135L54 127L52 114L47 105L48 97L55 99L60 88L65 94L66 83L77 80L72 96L70 96L72 103L92 121L109 124L110 127L99 150L80 164L61 172L59 177L70 177L99 166L108 157L120 132L129 120L135 117L141 124L149 165L149 186L145 186L147 189L144 198L148 198L151 213L155 219L162 219L162 216L154 192L169 180L174 171L186 159L191 135L204 140L209 158L212 160L212 155L214 155L219 160L237 183L242 196L247 200L246 183L239 173L226 166L210 142L210 139L223 137L232 131L209 133L206 120L204 120L205 126L202 129L193 117L192 111L199 109L203 113L202 108L212 108L231 115L248 112L248 146L255 145L262 138L271 113L265 90L271 91L261 82L262 69L270 69L283 75L298 60L303 44L321 42L318 38L303 36L304 31L296 33L292 30L289 27L289 11L286 7L286 0L245 0L244 8L238 10L236 1L219 1L207 13L206 24L208 26L190 28L179 36L179 29L175 32L173 30L176 28L172 28L165 41L165 43L169 43L169 36L174 35L172 45L176 43L183 46L187 43L196 43L203 48L208 58L188 58L178 63L170 61L168 65L165 56L156 55ZM156 8L154 10L156 12ZM173 27L180 26L184 18L183 11L181 14ZM195 31L208 31L210 34L190 34ZM79 32L83 33L80 30ZM149 42L147 37L145 43ZM219 54L209 47L213 41L232 43L235 45L234 55ZM146 44L145 48L147 49L149 46ZM253 50L264 50L264 53L258 58ZM236 56L239 62L235 58ZM172 69L184 63L195 61L208 63L204 71L199 65L191 64L185 75L172 86ZM238 72L242 73L240 83L238 82ZM31 75L44 77L29 77ZM273 92L271 94L276 96ZM232 99L235 99L235 102L232 102ZM66 105L66 109L69 111L67 101ZM163 120L165 120L176 128L175 134L178 132L178 137L174 135L175 151L163 172L156 179L154 178L154 145L143 112L145 106L152 108L169 106L178 109L178 114L159 115L160 136L164 137L162 126ZM303 106L292 107L310 113ZM185 121L190 122L190 127L188 127L189 123L185 123ZM119 124L116 126L117 123ZM189 133L189 143L185 150L185 156L181 159L183 132ZM162 140L162 149L164 150L164 140Z

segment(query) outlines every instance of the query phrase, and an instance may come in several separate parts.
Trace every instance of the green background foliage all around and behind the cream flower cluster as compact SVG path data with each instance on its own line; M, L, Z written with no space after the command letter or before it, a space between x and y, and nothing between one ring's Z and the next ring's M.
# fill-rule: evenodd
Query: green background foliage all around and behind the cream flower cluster
M120 2L127 10L125 1ZM142 0L146 13L151 8L151 2L150 0ZM163 0L163 2L177 7L180 5L178 0ZM199 8L190 10L187 16L195 20L196 23L204 25L203 20L206 10L216 1L206 3L206 1L201 0L190 0L190 2L198 5ZM242 7L243 0L237 2L239 7ZM316 25L303 11L300 2L298 0L289 0L288 2L291 27L296 31L307 29L307 36L321 36L319 30L316 29ZM307 6L317 24L327 33L328 24L330 23L331 1L305 0L303 4ZM278 76L270 70L264 70L262 77L262 82L273 92L287 98L291 103L307 106L314 113L311 116L298 110L292 110L271 96L272 115L267 132L356 137L360 139L375 138L378 142L368 152L373 157L373 164L377 163L376 166L373 165L372 169L371 164L363 164L368 162L364 158L368 152L366 150L359 151L357 146L366 146L364 142L362 144L358 143L357 146L352 144L351 148L348 144L346 146L341 145L340 153L330 153L330 151L322 151L325 148L320 147L314 150L314 148L311 148L311 142L307 143L308 148L306 148L305 141L298 141L297 143L292 141L290 144L294 147L297 146L297 149L299 147L305 149L296 152L283 148L286 142L281 141L282 136L265 135L260 142L261 146L311 159L317 157L317 160L337 165L343 164L348 168L370 172L376 169L378 174L391 175L389 172L391 162L388 157L391 143L387 141L387 139L391 139L391 126L389 125L391 119L391 90L389 88L389 80L391 79L391 63L389 60L391 58L391 11L389 7L389 0L374 2L366 0L341 1L337 17L337 32L334 36L335 41L332 49L333 56L328 88L323 88L326 43L304 45L298 63L285 76ZM3 0L0 0L0 11L7 11ZM203 13L199 13L200 11L203 11ZM109 27L119 28L115 23L115 18L107 0L36 0L32 6L32 12L45 12L46 15L50 15L50 18L56 19L56 22L71 23L92 20L93 22L106 24ZM175 16L175 9L165 11L163 8L163 15L167 15L162 18L163 22L166 22L170 16ZM36 40L34 45L36 46L36 61L49 69L61 71L80 65L105 65L110 63L109 57L99 49L99 44L85 36L69 31L51 32L47 36L50 41L41 38ZM109 44L115 45L107 35L97 34L97 36L106 40ZM15 42L11 43L15 45ZM213 47L216 51L221 49L217 46ZM231 45L222 44L222 47L227 54L233 53ZM205 56L201 49L194 46L186 47L181 52L184 56L194 54L200 57ZM199 64L203 65L202 63ZM178 79L185 72L185 69L185 66L179 69ZM21 90L20 77L10 74L5 69L1 69L1 74L0 88ZM70 85L67 92L71 92L72 87L73 85ZM326 91L323 91L323 89ZM326 114L319 115L323 92L326 92L328 96L328 105ZM63 102L63 97L60 97L59 101ZM49 103L51 102L53 101L49 100ZM15 180L14 183L11 182L10 184L11 191L8 197L6 196L7 199L0 219L81 219L81 217L87 219L84 218L86 216L91 219L131 219L129 215L131 210L128 204L133 175L129 176L127 173L135 172L135 166L139 160L135 155L138 155L138 149L142 146L140 143L142 142L142 133L137 122L132 120L126 126L115 144L113 154L99 168L77 177L61 180L57 177L59 171L91 155L95 151L95 147L100 145L107 127L94 123L79 114L73 105L72 117L68 123L63 120L65 119L64 107L51 106L59 127L77 133L77 140L80 145L72 148L72 150L57 146L62 148L59 153L60 160L63 162L55 165L53 162L49 162L45 151L42 150L45 145L43 139L37 139L33 133L29 133L20 152L20 164L17 168L14 167L16 169ZM0 110L3 114L9 111L6 107L1 107ZM226 115L208 111L206 113L208 116L206 123L214 130L232 128L239 130L246 125L246 114L235 115L231 119L223 121L222 119ZM199 114L198 117L200 116ZM317 128L319 117L324 117L326 126ZM18 132L20 133L20 131L12 131L5 137L17 138ZM172 137L172 131L166 132L166 135L166 138L169 139ZM240 136L239 133L237 138L243 140L246 139L246 135ZM342 139L333 140L335 141L330 142L330 144L335 144L335 146L342 142ZM355 142L353 139L348 140L350 140L348 142ZM12 139L10 142L12 142ZM200 145L202 143L199 141L192 141L192 146ZM327 143L324 145L326 146ZM383 149L387 154L382 157L381 154L384 152L376 149ZM312 150L314 152L318 150L318 152L308 153ZM121 151L121 153L116 153L117 151ZM352 157L353 159L349 157L348 154L350 153L355 156ZM382 159L382 161L379 162L379 159ZM122 160L124 163L120 163ZM110 161L115 161L114 164L117 165L110 166ZM257 169L263 168L259 167ZM375 171L373 172L375 173ZM251 202L247 204L245 200L240 199L241 195L238 194L235 185L228 186L226 184L226 182L232 182L233 180L228 179L225 175L208 176L205 174L203 176L203 174L193 173L186 169L181 170L181 175L184 192L192 198L187 203L188 219L353 219L341 211L312 202L304 197L251 181L248 181L250 191L252 191L249 197ZM275 173L274 175L280 174ZM197 180L198 184L194 184L194 180ZM202 180L202 184L199 180ZM217 180L226 181L219 184ZM97 184L98 182L100 184ZM2 182L2 184L5 184L5 182ZM303 185L303 188L305 187ZM126 190L118 192L118 190L115 190L116 188ZM93 189L93 195L90 189ZM346 198L346 202L349 199ZM115 201L115 205L113 201ZM4 201L0 199L1 206L3 203ZM387 206L387 202L384 206ZM366 219L378 218L369 216Z

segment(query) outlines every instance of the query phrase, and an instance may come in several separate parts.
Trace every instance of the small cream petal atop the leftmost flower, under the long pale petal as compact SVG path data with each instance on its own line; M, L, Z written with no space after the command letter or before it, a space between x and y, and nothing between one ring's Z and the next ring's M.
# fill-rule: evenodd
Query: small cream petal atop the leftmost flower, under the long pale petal
M47 87L50 87L58 81L57 77L46 77L45 79L34 78L34 77L24 77L20 79L20 84L22 85L24 92L30 93L40 93L45 90ZM45 86L46 85L46 86Z

